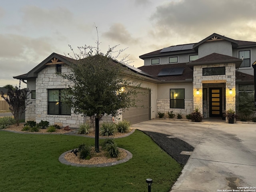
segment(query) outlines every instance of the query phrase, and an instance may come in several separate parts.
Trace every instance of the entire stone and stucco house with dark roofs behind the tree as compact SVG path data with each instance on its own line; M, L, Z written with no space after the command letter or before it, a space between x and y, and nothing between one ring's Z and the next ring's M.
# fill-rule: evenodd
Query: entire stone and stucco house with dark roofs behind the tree
M236 109L239 92L254 92L252 63L256 60L256 42L214 33L200 42L162 48L140 58L144 66L126 65L129 75L142 84L146 93L138 96L137 105L144 108L130 108L120 116L132 123L156 118L158 112L173 111L185 116L195 108L204 117L220 117L226 109ZM68 82L56 72L71 73L70 64L74 62L53 53L27 74L14 77L27 80L27 87L32 90L26 120L48 120L50 124L71 127L86 121L60 105L61 92ZM58 98L54 97L56 93Z

